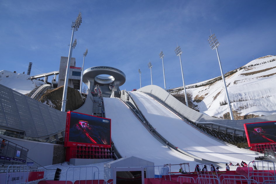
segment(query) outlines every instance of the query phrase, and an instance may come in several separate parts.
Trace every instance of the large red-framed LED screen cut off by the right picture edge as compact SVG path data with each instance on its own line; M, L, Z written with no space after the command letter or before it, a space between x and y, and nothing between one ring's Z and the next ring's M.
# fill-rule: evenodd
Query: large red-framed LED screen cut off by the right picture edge
M276 121L245 123L244 130L249 146L276 143Z

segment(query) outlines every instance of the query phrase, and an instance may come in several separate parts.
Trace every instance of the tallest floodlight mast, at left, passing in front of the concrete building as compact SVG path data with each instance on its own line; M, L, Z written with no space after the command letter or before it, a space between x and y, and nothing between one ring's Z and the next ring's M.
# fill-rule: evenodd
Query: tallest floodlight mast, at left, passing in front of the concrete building
M72 36L71 36L71 42L70 42L70 48L69 48L69 56L68 56L68 61L67 61L67 68L66 68L66 75L65 75L65 80L64 80L64 90L63 90L63 96L62 96L62 101L61 101L61 111L65 111L65 106L66 106L66 98L67 98L67 87L68 87L68 78L69 78L69 70L70 70L70 61L71 61L71 56L72 56L72 50L75 48L77 44L77 40L75 39L75 45L73 43L73 37L74 37L74 32L78 30L80 27L80 23L82 23L82 13L80 12L79 15L77 16L77 19L75 22L72 22Z

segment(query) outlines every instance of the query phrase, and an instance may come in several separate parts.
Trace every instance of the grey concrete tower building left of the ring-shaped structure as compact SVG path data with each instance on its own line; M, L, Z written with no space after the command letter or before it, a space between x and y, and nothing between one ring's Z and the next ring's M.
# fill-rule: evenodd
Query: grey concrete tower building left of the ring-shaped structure
M64 85L66 68L67 68L68 57L61 56L59 75L58 75L58 87ZM76 90L80 89L80 76L82 73L81 67L76 67L76 58L71 58L70 70L68 78L68 87L72 87Z

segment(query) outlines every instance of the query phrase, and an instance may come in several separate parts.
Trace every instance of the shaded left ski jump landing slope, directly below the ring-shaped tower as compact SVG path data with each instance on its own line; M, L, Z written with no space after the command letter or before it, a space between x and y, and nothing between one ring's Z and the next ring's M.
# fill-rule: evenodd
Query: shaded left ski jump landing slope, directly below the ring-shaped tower
M161 144L120 99L104 98L104 104L106 118L111 119L112 141L122 157L142 158L154 162L155 166L188 162L190 171L199 164L192 161L191 157ZM171 166L171 169L178 172L179 167Z

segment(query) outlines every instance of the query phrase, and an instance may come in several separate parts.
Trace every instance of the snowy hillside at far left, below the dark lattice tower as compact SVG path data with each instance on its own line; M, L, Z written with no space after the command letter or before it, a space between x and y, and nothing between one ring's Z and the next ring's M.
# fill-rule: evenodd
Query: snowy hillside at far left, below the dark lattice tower
M22 94L27 94L37 86L43 85L44 82L40 80L31 80L30 75L27 74L2 70L0 71L0 84Z

